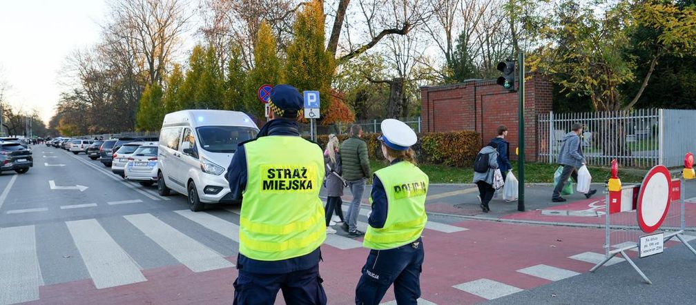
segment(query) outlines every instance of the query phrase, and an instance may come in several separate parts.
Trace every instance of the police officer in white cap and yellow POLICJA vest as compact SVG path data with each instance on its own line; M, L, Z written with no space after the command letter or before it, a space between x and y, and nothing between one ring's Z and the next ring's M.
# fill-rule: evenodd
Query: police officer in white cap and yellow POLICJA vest
M416 133L400 120L381 123L381 150L390 166L374 172L372 212L363 246L370 249L356 288L356 304L379 304L394 284L396 302L416 304L420 297L420 272L425 228L428 176L416 166Z

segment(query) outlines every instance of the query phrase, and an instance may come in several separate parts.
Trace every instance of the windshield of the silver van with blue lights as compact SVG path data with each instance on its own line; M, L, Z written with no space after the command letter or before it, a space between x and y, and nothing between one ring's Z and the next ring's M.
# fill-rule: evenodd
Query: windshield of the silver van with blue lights
M203 126L196 128L200 147L211 153L234 153L237 144L254 139L258 131L245 126Z

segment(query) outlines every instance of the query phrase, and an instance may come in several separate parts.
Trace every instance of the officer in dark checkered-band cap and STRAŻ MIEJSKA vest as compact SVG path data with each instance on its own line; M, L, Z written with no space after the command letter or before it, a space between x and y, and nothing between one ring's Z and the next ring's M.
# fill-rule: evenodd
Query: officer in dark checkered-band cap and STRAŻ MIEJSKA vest
M242 198L234 304L271 305L278 290L286 304L326 304L319 276L324 154L300 137L297 89L278 85L270 97L269 122L239 144L226 175L232 196Z

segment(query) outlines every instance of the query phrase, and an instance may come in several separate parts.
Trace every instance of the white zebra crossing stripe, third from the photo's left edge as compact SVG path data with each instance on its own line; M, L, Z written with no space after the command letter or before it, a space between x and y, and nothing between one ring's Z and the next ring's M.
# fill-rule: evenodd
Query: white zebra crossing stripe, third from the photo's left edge
M180 263L193 272L234 267L221 254L205 247L200 242L172 228L152 214L136 214L124 216L127 221L145 233L145 236L159 244Z

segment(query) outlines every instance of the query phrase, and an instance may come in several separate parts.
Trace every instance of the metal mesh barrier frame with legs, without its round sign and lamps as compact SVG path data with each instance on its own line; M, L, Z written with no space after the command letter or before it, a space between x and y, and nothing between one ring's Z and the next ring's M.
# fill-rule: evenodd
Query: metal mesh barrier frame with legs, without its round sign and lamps
M658 230L650 234L664 233L663 242L667 242L668 240L681 241L690 251L696 254L696 250L694 250L682 236L686 230L686 221L684 219L684 180L683 178L672 179L672 185L674 185L674 182L678 182L681 185L679 199L670 199L670 207L667 209L664 221ZM605 191L605 259L592 267L590 272L595 272L599 267L605 265L609 260L614 258L614 256L621 254L646 283L652 283L626 253L626 251L640 251L640 243L638 241L640 237L646 235L638 225L638 210L635 209L635 201L638 198L638 190L640 187L640 185L622 186L620 205L618 207L617 205L613 205L613 208L609 192ZM628 210L621 212L624 210L622 205L633 206L628 206ZM619 211L617 211L617 209L619 209Z

